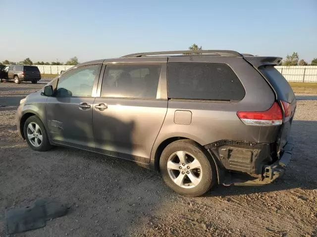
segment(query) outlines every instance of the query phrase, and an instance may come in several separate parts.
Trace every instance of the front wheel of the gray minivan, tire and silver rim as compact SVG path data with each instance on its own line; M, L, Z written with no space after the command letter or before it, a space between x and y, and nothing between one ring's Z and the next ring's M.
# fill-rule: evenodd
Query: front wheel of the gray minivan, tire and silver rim
M26 119L23 131L27 144L34 151L45 152L53 147L50 144L43 122L37 116Z

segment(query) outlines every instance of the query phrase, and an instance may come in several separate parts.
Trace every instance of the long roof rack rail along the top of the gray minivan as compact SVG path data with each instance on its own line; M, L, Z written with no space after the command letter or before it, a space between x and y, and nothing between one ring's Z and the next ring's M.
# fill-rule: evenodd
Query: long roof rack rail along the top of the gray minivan
M241 53L233 50L177 50L177 51L160 51L160 52L144 52L144 53L132 53L124 55L121 58L131 57L144 57L152 55L168 55L168 54L185 54L185 55L206 55L211 54L212 56L223 56L223 57L243 57Z

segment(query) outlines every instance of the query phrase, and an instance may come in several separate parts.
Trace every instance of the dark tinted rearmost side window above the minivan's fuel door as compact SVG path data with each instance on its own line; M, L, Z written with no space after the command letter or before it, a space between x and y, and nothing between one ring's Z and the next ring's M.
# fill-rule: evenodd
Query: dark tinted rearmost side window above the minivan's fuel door
M168 98L242 100L245 90L224 63L170 62L167 68Z

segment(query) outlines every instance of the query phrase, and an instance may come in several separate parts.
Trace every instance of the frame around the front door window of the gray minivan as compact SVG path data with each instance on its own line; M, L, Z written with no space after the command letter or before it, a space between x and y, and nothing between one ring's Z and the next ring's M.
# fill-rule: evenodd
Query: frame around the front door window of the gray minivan
M59 82L60 79L63 79L69 73L74 72L77 69L88 68L88 67L93 67L93 66L97 66L97 74L96 74L96 77L94 79L94 85L93 85L91 96L56 96L57 85L58 85L58 82ZM57 79L53 80L50 83L50 85L53 85L53 97L55 97L55 98L95 98L96 97L95 94L96 94L96 90L97 90L98 79L100 77L101 69L102 69L102 63L85 64L85 65L80 65L80 66L76 66L76 67L72 68L71 70L69 70L65 74L57 77ZM98 71L99 71L99 73L98 73Z

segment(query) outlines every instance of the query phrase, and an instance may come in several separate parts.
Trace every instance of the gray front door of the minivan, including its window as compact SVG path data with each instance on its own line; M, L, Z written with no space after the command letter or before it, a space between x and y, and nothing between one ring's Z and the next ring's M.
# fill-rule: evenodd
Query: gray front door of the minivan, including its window
M46 102L49 135L54 143L95 150L92 96L101 65L83 66L58 79Z

